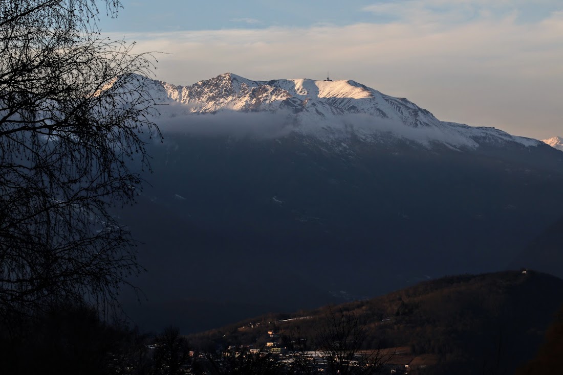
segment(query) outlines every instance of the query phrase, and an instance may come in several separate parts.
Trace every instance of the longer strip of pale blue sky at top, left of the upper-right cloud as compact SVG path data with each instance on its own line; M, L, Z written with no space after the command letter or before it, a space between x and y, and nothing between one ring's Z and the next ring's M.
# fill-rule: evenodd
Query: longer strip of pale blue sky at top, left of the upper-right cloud
M268 26L310 26L321 22L346 25L371 22L363 7L373 1L227 1L123 0L120 24L105 22L106 30L176 31ZM351 4L350 4L351 3ZM151 22L146 20L150 17Z

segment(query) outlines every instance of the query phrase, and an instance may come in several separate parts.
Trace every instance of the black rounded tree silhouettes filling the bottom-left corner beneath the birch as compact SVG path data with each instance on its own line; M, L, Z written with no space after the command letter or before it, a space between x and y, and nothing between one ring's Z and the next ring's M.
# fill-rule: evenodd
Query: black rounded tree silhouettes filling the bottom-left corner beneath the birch
M43 313L2 318L0 363L6 374L172 375L194 364L177 328L142 333L124 322L106 322L87 304L56 303Z

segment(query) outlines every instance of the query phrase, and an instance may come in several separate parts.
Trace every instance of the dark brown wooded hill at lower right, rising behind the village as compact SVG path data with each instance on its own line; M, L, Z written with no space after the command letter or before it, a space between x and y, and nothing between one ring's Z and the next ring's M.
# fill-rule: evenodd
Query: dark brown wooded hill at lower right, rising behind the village
M513 373L533 358L562 302L563 280L549 274L525 269L464 274L374 299L260 315L189 339L201 347L262 347L266 342L284 347L298 333L314 343L327 317L336 313L363 324L369 332L365 350L404 348L408 355L398 356L399 362L434 356L431 373L471 374L497 360L506 373Z

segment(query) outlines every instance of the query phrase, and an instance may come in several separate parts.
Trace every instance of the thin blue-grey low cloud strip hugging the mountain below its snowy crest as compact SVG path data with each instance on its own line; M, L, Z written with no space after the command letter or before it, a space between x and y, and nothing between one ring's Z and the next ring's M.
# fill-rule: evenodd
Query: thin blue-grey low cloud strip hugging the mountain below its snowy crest
M157 123L164 139L175 139L176 135L195 137L233 137L235 139L279 139L296 132L324 141L341 144L347 139L358 137L369 142L388 143L395 140L408 140L430 147L434 142L448 144L450 147L478 147L472 137L495 133L499 140L514 141L510 135L499 134L496 130L468 129L454 124L439 127L406 126L398 120L374 118L365 114L348 114L311 123L300 119L291 111L239 112L224 110L216 114L189 114L185 105L166 106L161 111ZM486 133L486 134L485 134ZM537 141L516 140L526 146L535 146ZM164 143L168 143L165 141Z

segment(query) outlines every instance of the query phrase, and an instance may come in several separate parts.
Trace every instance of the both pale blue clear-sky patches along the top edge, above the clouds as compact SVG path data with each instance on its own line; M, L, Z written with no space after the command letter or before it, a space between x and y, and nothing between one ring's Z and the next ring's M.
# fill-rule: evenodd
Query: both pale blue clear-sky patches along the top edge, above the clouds
M404 16L400 8L417 3L417 0L122 0L124 10L119 22L105 20L102 25L105 31L146 32L385 23L400 20ZM460 17L452 20L455 22L460 18L476 19L484 10L495 16L518 12L518 22L534 22L557 9L558 1L428 0L425 3L425 8L436 13L459 11Z

